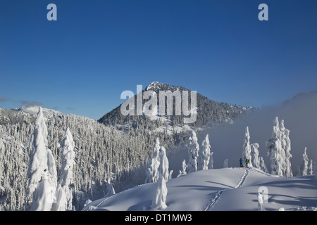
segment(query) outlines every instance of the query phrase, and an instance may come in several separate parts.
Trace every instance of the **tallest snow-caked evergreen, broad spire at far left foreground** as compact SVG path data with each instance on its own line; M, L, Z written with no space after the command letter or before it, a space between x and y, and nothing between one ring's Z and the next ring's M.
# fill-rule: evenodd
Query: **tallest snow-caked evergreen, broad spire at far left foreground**
M27 171L27 195L32 196L30 210L49 211L54 202L57 173L51 150L47 148L47 129L39 108L30 140L30 165Z

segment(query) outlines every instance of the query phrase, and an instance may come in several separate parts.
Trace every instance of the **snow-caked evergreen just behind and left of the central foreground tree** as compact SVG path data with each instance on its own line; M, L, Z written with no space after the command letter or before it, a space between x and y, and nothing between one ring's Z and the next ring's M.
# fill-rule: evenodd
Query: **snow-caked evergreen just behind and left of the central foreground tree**
M160 141L159 138L156 138L156 141L153 146L153 158L151 158L149 164L147 165L145 183L156 182L159 179L159 152L160 152Z

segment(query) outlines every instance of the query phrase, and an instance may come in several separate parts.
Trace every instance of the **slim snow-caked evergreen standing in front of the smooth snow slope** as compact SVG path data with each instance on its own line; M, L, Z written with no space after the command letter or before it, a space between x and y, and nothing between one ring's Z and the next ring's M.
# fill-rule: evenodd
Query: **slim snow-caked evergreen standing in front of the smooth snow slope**
M151 208L154 210L164 210L166 209L166 195L168 189L166 187L166 181L168 181L168 158L166 157L166 149L161 146L159 152L159 181L157 181L157 188L155 196L152 200Z

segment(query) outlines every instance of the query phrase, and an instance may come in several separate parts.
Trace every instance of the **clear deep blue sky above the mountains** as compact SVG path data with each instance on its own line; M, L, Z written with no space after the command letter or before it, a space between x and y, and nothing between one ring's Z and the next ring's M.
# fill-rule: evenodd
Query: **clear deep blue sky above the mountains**
M261 107L317 89L316 56L312 0L0 1L2 108L99 119L153 81Z

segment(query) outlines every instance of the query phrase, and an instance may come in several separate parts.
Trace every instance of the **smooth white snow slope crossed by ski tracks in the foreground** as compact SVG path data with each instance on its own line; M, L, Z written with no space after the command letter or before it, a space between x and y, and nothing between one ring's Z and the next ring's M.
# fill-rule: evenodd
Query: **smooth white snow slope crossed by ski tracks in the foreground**
M256 169L201 170L167 182L166 210L258 210L257 192L268 190L266 210L317 210L315 176L278 177ZM83 210L151 210L156 184L144 184L89 203Z

